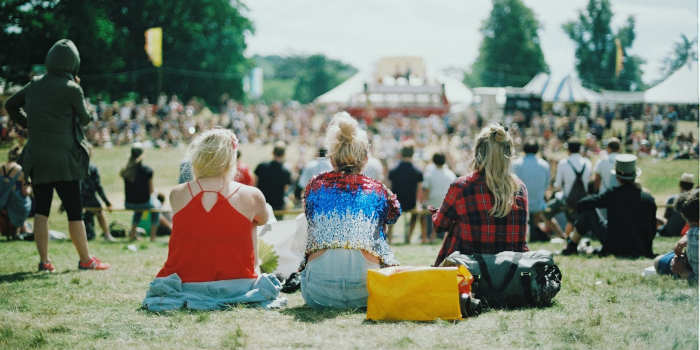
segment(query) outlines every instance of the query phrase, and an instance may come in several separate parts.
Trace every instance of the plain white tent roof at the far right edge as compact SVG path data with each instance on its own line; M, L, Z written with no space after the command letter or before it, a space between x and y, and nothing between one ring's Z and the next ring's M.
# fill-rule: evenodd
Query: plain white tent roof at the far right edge
M698 62L684 65L666 80L644 91L644 102L698 104Z

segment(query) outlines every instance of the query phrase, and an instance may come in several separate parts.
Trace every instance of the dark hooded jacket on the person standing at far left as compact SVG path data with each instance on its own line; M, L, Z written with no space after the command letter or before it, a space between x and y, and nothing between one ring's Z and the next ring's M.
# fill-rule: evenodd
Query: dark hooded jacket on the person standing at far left
M89 158L82 128L91 117L83 89L74 79L79 67L78 48L72 41L61 39L46 54L46 75L24 86L5 103L10 118L28 129L21 163L33 183L75 181L87 176Z

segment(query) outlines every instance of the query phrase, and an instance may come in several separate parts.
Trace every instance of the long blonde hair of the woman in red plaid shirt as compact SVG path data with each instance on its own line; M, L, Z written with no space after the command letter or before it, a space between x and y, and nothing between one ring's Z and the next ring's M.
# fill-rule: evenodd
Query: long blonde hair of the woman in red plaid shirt
M513 206L513 195L518 190L515 176L510 171L513 139L500 125L492 124L479 132L472 169L483 171L486 187L493 195L493 208L489 215L504 217Z

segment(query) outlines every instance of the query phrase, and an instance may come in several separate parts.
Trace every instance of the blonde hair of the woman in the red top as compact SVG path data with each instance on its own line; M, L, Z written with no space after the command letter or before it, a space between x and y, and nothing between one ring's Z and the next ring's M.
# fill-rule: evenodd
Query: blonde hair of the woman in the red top
M207 130L195 137L188 150L196 178L229 175L236 169L238 139L227 129Z

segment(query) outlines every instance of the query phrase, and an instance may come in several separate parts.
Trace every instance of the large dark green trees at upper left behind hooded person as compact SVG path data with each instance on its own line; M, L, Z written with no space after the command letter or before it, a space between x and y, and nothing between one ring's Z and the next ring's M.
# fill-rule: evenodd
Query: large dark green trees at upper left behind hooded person
M163 28L163 90L210 104L228 93L242 99L243 56L252 23L245 6L229 0L7 0L0 2L0 72L24 84L32 65L43 64L60 38L81 54L88 95L113 98L135 91L155 97L158 72L144 52L144 31Z

